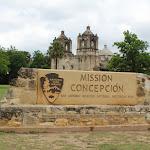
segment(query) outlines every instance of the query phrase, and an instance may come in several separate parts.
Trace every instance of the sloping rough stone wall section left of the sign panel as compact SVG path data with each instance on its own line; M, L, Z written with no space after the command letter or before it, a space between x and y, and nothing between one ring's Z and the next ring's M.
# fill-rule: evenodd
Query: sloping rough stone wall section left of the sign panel
M21 68L18 78L10 82L11 88L1 100L3 104L36 104L37 101L37 69Z

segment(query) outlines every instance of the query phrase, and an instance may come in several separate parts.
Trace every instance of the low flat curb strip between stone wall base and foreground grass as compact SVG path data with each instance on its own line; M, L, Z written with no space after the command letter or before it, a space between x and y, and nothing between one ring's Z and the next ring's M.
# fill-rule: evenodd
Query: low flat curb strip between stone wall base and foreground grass
M14 131L16 133L24 132L47 132L47 133L61 133L61 132L88 132L88 131L147 131L150 128L150 124L142 125L126 125L126 126L72 126L72 127L49 127L49 126L35 126L35 127L0 127L2 131Z

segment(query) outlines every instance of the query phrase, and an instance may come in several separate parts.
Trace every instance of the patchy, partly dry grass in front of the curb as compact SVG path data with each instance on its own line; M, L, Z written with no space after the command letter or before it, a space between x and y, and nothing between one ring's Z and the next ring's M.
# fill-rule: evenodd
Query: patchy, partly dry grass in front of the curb
M150 131L6 133L0 150L150 150Z

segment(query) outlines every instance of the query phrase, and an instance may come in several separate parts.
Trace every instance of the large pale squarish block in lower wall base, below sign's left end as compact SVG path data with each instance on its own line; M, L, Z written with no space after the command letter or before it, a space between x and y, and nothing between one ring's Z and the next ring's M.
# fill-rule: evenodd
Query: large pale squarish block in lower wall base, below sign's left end
M37 117L34 117L31 113L25 113L23 117L23 125L24 126L37 126L39 124L39 120Z

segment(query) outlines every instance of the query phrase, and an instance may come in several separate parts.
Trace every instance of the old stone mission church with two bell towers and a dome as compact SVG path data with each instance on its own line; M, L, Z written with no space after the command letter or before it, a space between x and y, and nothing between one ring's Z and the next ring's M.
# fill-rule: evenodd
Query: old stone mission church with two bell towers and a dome
M67 38L64 31L55 38L54 41L60 41L65 47L65 55L57 60L57 69L59 70L92 70L95 67L105 68L113 53L104 45L103 50L98 49L98 36L93 34L90 27L77 37L76 55L72 53L72 41ZM56 60L51 60L51 69L56 68Z

